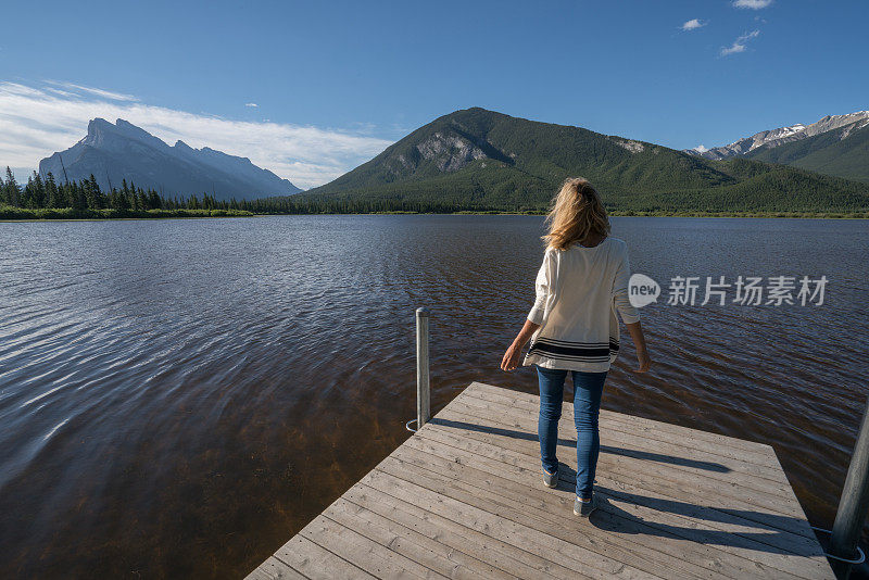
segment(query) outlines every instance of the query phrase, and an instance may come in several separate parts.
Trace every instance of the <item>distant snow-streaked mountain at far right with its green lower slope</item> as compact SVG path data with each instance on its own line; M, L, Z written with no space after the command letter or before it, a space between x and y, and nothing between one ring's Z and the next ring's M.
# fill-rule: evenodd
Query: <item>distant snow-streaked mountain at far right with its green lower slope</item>
M869 111L755 134L729 146L689 149L709 160L744 156L869 182Z

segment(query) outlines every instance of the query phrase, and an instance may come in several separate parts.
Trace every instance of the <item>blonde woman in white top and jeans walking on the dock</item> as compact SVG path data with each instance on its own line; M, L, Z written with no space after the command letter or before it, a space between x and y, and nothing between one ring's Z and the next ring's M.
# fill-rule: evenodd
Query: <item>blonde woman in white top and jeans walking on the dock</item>
M558 419L567 371L574 378L577 426L577 497L574 514L588 517L596 507L593 494L600 439L597 415L609 365L618 355L618 311L637 345L638 373L651 360L640 316L628 300L628 249L609 237L609 219L601 198L585 179L567 179L546 217L549 234L537 275L537 301L504 360L513 370L528 340L522 366L534 365L540 381L540 456L543 482L558 481Z

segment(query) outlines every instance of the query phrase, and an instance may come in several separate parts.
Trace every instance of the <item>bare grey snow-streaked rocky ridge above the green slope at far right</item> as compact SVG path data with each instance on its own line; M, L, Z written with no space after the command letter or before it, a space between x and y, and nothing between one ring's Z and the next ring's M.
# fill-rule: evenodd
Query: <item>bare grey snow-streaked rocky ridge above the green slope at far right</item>
M847 115L828 115L817 123L811 125L803 125L797 123L790 127L780 127L778 129L770 129L760 131L751 137L745 137L739 141L734 141L728 146L716 147L706 149L705 147L697 147L694 149L685 150L687 153L698 155L710 160L727 159L736 155L745 155L755 149L766 147L771 149L792 141L798 141L808 137L814 137L822 133L843 129L840 139L845 139L853 131L861 129L869 125L869 111L858 111Z

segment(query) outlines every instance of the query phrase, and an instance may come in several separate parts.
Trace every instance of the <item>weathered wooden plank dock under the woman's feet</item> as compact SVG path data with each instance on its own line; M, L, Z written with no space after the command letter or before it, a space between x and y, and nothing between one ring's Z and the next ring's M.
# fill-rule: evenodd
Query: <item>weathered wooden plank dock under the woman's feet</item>
M538 398L471 383L249 578L834 578L769 445L601 412L589 519L574 408L543 486Z

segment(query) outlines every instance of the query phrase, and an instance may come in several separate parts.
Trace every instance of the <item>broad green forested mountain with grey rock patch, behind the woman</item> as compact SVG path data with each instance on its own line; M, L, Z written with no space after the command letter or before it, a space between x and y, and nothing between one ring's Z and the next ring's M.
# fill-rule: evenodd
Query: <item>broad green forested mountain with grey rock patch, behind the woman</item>
M618 211L869 209L869 186L735 157L707 160L580 127L484 109L444 115L304 199L540 210L583 176Z

